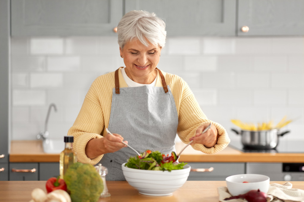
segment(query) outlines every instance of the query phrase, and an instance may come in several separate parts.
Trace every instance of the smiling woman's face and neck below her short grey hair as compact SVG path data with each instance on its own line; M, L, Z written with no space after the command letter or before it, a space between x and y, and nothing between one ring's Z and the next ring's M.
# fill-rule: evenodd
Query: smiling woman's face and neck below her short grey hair
M126 74L130 79L141 84L150 84L156 77L155 68L161 55L158 45L143 45L139 40L128 41L120 50L126 65Z

